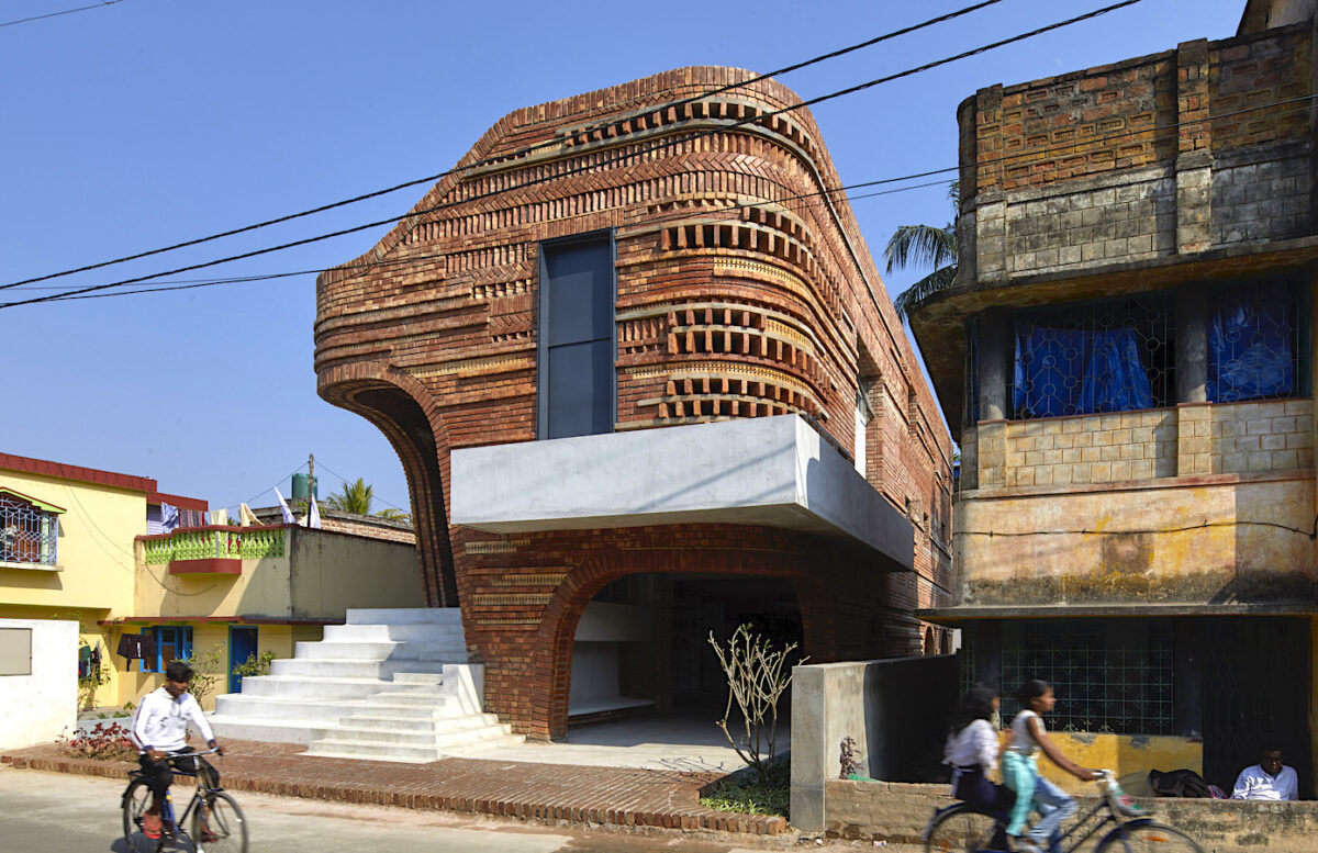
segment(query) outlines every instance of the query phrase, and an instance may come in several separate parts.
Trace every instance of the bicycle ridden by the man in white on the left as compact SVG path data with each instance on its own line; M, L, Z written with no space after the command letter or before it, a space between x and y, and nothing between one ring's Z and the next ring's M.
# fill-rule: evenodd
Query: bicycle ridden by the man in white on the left
M215 752L219 750L170 753L169 758L173 763L174 758L210 756ZM165 802L161 803L159 839L148 839L142 831L142 815L152 802L148 777L140 770L129 770L128 787L124 790L124 841L128 842L129 850L152 849L154 853L161 853L166 842L181 840L196 853L248 853L246 819L243 816L243 810L224 788L210 786L195 761L192 770L188 773L175 767L175 774L196 777L196 790L182 817L178 819L170 790L166 790ZM185 828L188 817L192 821L191 832Z

